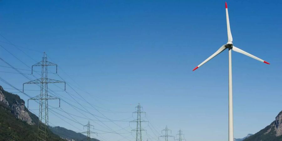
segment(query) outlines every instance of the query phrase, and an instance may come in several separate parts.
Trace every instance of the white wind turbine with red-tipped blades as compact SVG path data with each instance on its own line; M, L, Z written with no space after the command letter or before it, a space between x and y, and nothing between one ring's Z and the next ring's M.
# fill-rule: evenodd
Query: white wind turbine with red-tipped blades
M222 47L220 47L214 54L212 54L212 56L210 56L209 58L207 58L206 60L204 60L200 65L196 66L196 68L193 69L196 70L197 68L199 68L201 65L205 64L207 61L211 60L213 57L215 57L216 55L220 54L223 50L228 49L228 61L229 61L229 77L228 77L228 81L229 81L229 140L228 141L233 141L233 100L232 100L232 60L231 60L231 50L242 53L243 55L247 55L253 59L259 60L261 62L264 62L266 64L269 64L267 61L264 61L254 55L249 54L246 51L243 51L237 47L235 47L232 43L233 39L232 39L232 35L231 35L231 31L230 31L230 25L229 25L229 16L228 16L228 10L227 10L227 3L225 2L225 9L226 9L226 22L227 22L227 36L228 36L228 42L227 44L222 45Z

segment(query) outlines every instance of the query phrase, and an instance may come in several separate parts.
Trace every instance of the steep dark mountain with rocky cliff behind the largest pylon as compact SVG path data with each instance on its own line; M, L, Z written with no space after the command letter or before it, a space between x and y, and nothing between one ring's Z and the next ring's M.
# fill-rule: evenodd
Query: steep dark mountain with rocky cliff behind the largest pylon
M18 95L3 90L0 86L0 140L36 141L38 118L24 106L24 100ZM51 131L52 141L63 141Z

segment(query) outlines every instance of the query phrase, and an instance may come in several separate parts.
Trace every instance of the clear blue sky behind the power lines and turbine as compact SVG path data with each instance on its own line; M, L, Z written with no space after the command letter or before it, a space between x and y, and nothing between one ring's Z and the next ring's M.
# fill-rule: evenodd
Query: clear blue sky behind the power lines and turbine
M271 64L236 52L232 54L234 137L242 138L269 125L282 110L282 2L232 0L227 4L233 44ZM98 118L102 123L90 121L102 130L93 130L98 132L98 139L134 140L135 133L128 132L136 124L129 126L127 121L136 118L131 112L140 103L147 112L144 120L150 121L142 124L147 129L143 140L158 140L167 125L172 135L183 130L187 141L227 141L227 51L192 72L227 43L225 1L2 0L0 21L0 34L18 46L7 44L3 37L0 44L19 60L31 66L46 51L49 61L60 66L58 74L65 81L91 94L73 87L87 102L98 106L107 118L126 119L104 122L107 119L101 113L67 86L66 91L78 97L75 99L91 114L102 117ZM27 66L3 48L0 55L14 67L26 69L21 70L23 73L30 73ZM2 61L0 65L7 66ZM55 72L55 68L49 70ZM0 72L0 75L19 89L29 81L20 74ZM48 75L60 80L52 73ZM60 90L52 84L49 87ZM39 87L29 85L26 89L39 90ZM39 91L26 92L31 96L39 94ZM66 102L83 109L67 93L57 93ZM17 94L27 101L28 97ZM61 108L66 112L95 119L80 111L82 115L66 102L61 100ZM37 114L37 103L29 103L29 108ZM50 102L53 107L57 104ZM88 122L53 110L79 123ZM81 124L58 114L49 112L49 119L50 125L85 131ZM120 134L107 133L112 130Z

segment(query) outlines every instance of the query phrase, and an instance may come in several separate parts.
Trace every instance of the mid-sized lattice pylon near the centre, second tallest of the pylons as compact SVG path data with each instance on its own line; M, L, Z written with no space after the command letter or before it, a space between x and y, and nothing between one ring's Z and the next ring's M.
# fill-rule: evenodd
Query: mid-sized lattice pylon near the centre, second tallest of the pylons
M141 128L141 123L148 122L148 121L141 120L141 113L145 113L146 115L146 112L141 111L141 108L143 107L140 106L140 103L138 103L138 106L135 108L137 108L137 111L133 113L137 113L137 119L130 121L130 122L135 122L137 123L137 125L136 125L136 128L131 131L136 131L136 141L142 141L142 131L146 131L146 130Z

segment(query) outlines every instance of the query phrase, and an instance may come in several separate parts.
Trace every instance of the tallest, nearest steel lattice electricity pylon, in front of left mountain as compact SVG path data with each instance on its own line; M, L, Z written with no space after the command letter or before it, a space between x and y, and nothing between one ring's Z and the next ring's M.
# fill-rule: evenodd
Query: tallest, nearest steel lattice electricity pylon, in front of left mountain
M47 77L47 66L56 66L56 73L57 73L57 64L51 63L47 61L47 55L44 52L42 57L42 61L32 65L31 74L33 73L34 66L41 66L41 78L26 82L24 84L40 84L40 95L32 97L29 100L39 100L39 122L38 122L38 133L37 133L37 140L38 141L46 141L48 138L48 100L49 99L59 99L57 97L52 97L48 95L48 83L65 83L64 81L58 81L54 79L49 79ZM23 84L23 91L24 91L24 84ZM60 104L59 104L60 106Z

